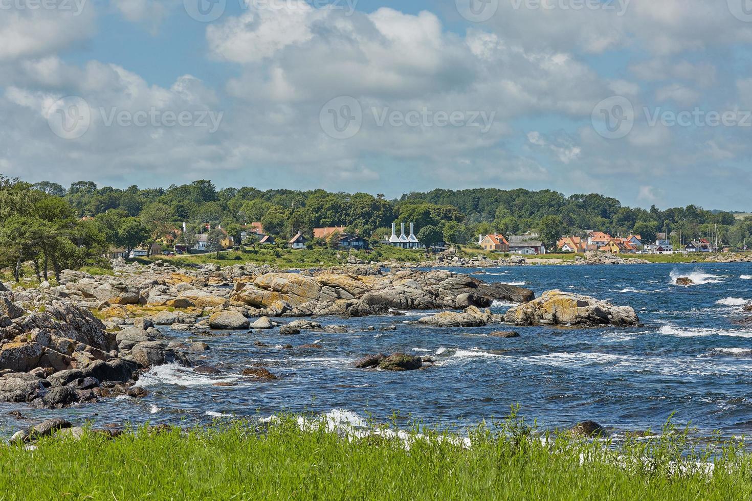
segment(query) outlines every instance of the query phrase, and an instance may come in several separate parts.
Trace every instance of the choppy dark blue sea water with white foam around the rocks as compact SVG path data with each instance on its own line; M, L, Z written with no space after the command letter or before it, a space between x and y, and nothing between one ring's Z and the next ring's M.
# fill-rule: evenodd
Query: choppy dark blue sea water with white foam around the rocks
M472 273L480 270L455 270ZM32 421L51 416L80 424L208 423L220 416L346 409L378 421L421 420L438 427L502 418L514 404L541 427L570 427L593 419L617 430L660 429L669 415L702 432L752 433L752 324L735 325L752 300L752 264L649 264L644 266L535 266L485 269L478 278L531 288L553 288L632 306L643 326L514 327L521 337L488 337L509 326L437 328L406 323L426 312L369 318L318 318L346 334L278 330L215 332L207 336L163 330L168 340L202 340L207 364L223 373L202 376L174 365L156 367L138 385L144 399L120 397L71 409L40 410L0 404L2 434L23 426L7 412ZM696 285L679 287L677 276ZM497 303L504 312L510 305ZM292 319L291 319L292 320ZM284 319L283 321L287 321ZM381 327L396 325L396 330ZM368 326L376 331L364 330ZM267 348L255 346L261 341ZM283 349L320 343L322 349ZM356 370L362 355L406 352L432 355L436 367L407 373ZM239 372L262 364L279 379L256 382ZM235 386L217 387L214 383Z

